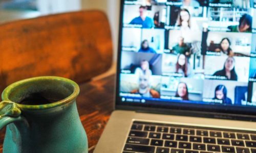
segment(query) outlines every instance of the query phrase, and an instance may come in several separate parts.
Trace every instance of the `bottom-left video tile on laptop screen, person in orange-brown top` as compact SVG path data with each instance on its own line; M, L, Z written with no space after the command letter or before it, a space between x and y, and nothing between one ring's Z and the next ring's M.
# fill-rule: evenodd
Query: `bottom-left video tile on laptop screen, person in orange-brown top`
M160 98L161 76L120 74L121 95Z

